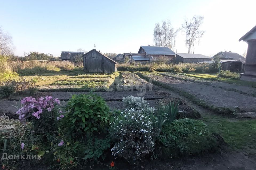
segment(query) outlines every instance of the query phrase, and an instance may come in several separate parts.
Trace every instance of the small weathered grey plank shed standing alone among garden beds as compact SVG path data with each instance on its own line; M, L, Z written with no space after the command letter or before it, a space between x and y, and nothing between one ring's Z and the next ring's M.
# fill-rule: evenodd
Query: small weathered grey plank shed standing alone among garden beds
M87 73L113 73L118 63L95 49L83 55L83 71Z

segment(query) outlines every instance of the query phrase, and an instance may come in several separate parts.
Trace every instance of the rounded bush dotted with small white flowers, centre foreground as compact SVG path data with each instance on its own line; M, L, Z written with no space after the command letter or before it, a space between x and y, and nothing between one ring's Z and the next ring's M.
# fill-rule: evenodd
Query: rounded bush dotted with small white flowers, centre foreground
M112 155L127 160L140 159L154 151L154 127L145 109L126 109L111 123L110 134L116 141Z

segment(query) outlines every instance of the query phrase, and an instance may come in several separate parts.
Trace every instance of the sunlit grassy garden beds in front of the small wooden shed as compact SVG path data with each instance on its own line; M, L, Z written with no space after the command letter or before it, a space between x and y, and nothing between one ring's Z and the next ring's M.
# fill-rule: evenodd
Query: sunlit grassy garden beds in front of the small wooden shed
M109 87L119 73L101 74L84 73L81 71L59 71L53 73L42 73L37 75L27 75L13 77L10 79L19 80L19 78L31 79L36 82L39 91L103 91L104 87ZM5 80L5 79L0 79Z

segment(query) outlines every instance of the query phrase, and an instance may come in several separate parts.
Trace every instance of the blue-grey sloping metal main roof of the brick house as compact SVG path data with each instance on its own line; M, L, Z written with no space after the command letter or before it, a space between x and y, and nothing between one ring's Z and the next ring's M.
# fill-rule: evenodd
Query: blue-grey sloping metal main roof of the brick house
M147 54L152 55L176 55L170 48L168 47L157 47L157 46L146 46L142 45L140 49L143 48ZM140 51L139 49L139 51ZM139 53L139 52L138 52Z

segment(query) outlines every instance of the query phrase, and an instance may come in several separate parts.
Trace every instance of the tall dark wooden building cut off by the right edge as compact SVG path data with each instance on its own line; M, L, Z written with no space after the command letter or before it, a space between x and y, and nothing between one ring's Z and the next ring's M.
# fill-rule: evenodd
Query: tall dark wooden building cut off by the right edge
M248 44L245 69L241 74L241 80L256 81L256 26L242 36L239 41L245 41Z

